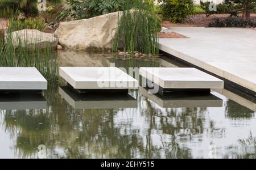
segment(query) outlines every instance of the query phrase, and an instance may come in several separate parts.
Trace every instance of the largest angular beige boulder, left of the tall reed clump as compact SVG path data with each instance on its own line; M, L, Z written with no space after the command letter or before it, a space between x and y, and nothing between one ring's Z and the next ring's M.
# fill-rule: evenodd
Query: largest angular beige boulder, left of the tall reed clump
M118 16L119 12L113 12L90 19L62 22L55 37L63 48L106 51L112 49Z

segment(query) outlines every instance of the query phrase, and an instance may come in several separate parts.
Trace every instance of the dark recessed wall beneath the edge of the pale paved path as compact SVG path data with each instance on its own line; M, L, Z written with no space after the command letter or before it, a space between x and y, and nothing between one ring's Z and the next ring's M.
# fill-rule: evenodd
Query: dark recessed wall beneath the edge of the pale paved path
M240 84L237 84L237 83L234 83L224 77L221 77L221 76L218 76L208 70L205 70L199 66L196 66L196 65L193 65L192 63L188 62L188 61L185 61L184 59L181 59L179 57L176 57L168 52L164 52L163 50L159 50L160 54L163 54L164 56L167 56L169 58L173 58L173 59L176 59L177 61L183 63L184 65L187 65L189 67L194 67L196 69L199 69L201 71L204 71L205 73L208 73L210 75L213 75L215 76L216 78L219 78L221 80L224 80L224 88L229 90L229 91L232 91L242 97L245 97L246 99L249 99L249 100L252 100L254 102L256 102L256 92L246 88L246 87L243 87L241 86Z

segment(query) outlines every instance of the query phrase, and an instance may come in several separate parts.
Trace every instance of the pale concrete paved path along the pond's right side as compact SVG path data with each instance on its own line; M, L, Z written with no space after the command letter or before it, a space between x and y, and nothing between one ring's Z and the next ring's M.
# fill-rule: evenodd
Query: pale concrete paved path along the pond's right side
M160 50L256 92L256 31L174 27L189 39L160 39Z

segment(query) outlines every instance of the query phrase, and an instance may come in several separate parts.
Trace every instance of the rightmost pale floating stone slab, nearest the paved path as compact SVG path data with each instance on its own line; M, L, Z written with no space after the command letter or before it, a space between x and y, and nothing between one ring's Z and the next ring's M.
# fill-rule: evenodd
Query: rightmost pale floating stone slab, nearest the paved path
M210 92L224 88L224 81L194 68L141 67L139 74L149 80L147 84L159 86L159 92Z

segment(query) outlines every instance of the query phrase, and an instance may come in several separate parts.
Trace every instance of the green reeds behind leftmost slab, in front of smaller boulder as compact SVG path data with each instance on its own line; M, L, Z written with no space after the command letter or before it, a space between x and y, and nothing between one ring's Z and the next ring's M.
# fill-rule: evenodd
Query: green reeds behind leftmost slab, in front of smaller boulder
M27 46L27 42L20 40L16 40L19 43L18 46L14 46L11 33L16 28L21 28L18 24L19 22L15 19L10 20L7 38L5 42L0 40L0 67L36 67L49 83L58 82L58 61L55 49L51 46L44 49L39 47L31 49ZM34 28L37 29L38 26L35 24Z

